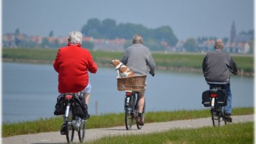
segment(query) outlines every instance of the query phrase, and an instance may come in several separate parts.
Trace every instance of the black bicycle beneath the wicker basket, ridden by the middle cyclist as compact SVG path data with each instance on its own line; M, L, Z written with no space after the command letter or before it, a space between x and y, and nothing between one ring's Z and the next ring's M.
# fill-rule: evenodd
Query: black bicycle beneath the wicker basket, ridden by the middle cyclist
M136 92L125 92L125 127L126 130L131 130L132 122L138 118L137 110L138 96ZM141 119L145 121L145 105L141 114ZM137 124L137 128L142 129L142 125Z

